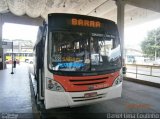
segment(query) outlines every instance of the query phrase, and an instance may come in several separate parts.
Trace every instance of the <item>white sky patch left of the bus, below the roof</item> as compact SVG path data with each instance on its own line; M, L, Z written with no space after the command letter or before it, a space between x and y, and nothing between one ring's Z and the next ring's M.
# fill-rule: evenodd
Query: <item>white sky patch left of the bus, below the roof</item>
M9 40L23 39L35 42L37 32L38 26L5 23L3 25L2 37Z

